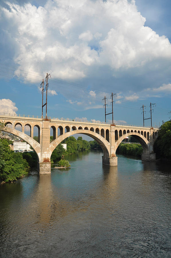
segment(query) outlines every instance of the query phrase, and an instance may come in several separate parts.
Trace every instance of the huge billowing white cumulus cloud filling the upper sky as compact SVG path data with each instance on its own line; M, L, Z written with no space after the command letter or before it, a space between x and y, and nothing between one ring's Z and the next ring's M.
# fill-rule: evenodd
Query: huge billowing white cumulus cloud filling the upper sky
M1 59L28 71L25 80L35 71L46 74L47 67L56 78L83 84L93 78L101 91L99 77L105 82L151 70L166 78L162 71L170 66L170 42L145 26L146 18L133 0L47 0L38 8L31 3L6 4L9 8L0 10ZM19 77L18 71L15 75Z

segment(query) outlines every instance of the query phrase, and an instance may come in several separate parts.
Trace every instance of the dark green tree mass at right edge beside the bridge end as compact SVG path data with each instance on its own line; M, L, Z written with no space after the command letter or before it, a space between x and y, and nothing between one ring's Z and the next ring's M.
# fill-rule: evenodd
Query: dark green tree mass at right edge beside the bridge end
M154 143L154 152L157 158L171 159L171 122L165 122L158 131Z

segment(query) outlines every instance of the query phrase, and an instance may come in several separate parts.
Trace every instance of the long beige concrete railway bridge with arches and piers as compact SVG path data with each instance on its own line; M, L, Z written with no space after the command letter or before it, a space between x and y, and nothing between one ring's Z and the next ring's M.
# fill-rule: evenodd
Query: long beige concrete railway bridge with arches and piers
M121 141L127 136L134 136L143 148L142 160L155 161L156 154L153 144L158 129L133 125L105 124L104 122L76 121L71 119L25 117L20 115L0 115L0 122L5 123L3 131L14 134L26 141L37 153L40 174L51 173L50 157L56 146L73 134L86 134L96 140L102 150L102 164L117 166L116 150ZM20 125L21 131L16 129ZM25 133L25 126L30 128L29 135ZM34 127L38 128L38 142L33 138ZM52 128L52 129L51 129ZM50 141L50 130L53 140ZM27 132L28 133L28 132Z

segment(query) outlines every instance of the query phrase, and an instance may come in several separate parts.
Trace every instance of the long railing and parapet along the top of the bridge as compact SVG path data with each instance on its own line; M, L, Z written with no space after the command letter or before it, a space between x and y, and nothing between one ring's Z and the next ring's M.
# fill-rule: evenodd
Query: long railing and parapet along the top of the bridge
M42 118L42 116L35 116L35 115L25 115L25 114L11 114L11 113L0 113L0 115L3 115L3 116L14 116L14 117L25 117L25 118ZM43 118L46 118L46 117L43 117ZM71 119L71 118L64 118L64 117L61 117L61 118L52 118L52 117L47 117L49 119L54 119L54 120L60 120L60 121L73 121L73 122L83 122L83 123L94 123L94 124L112 124L111 122L101 122L99 120L94 120L94 119L91 119L90 121L89 120L84 120L84 119ZM131 126L131 127L143 127L143 128L150 128L150 126L140 126L140 125L133 125L133 124L120 124L120 123L114 123L114 125L118 125L118 126ZM155 129L158 129L159 126L153 126L153 128Z

